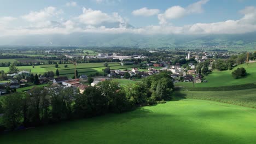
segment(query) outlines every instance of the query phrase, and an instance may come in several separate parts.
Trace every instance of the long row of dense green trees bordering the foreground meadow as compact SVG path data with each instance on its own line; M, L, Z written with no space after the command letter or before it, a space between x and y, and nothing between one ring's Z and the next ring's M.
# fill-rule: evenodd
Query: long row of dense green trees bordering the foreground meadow
M21 125L34 127L104 113L121 113L136 106L169 100L172 91L170 74L161 73L127 87L120 87L115 81L103 81L97 87L86 88L83 94L71 87L34 87L27 93L7 95L0 107L5 127L15 129Z

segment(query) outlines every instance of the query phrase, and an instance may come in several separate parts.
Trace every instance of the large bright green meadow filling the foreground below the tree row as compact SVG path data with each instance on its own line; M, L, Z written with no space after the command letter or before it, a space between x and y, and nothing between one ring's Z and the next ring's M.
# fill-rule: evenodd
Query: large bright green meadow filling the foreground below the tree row
M2 143L255 143L256 110L185 99L0 136ZM15 139L14 139L15 137Z

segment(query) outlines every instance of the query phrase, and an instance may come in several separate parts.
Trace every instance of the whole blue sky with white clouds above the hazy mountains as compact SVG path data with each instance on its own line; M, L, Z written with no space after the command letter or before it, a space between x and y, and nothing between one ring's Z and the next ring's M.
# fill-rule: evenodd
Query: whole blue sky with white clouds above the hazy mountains
M0 0L0 32L246 33L256 30L255 7L254 0Z

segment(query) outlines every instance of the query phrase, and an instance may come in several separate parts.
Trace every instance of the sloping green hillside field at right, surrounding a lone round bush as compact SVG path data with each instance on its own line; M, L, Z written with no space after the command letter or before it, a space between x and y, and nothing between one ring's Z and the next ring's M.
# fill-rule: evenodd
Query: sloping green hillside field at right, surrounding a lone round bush
M234 79L231 75L232 71L237 68L245 68L248 75L241 79ZM232 70L218 71L213 70L213 73L207 75L205 79L208 82L195 83L195 87L219 87L219 86L231 86L231 85L241 85L245 83L255 83L256 82L256 63L250 64L240 64ZM181 87L193 87L192 82L178 82L175 86Z

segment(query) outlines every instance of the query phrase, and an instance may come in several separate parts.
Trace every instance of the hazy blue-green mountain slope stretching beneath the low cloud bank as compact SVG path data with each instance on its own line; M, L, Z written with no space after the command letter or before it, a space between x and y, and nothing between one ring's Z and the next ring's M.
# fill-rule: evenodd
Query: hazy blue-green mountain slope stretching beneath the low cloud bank
M0 45L34 46L132 46L132 47L244 47L255 49L256 33L212 35L141 35L72 33L0 38Z

